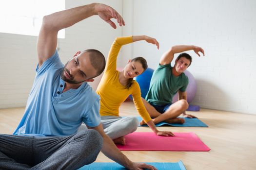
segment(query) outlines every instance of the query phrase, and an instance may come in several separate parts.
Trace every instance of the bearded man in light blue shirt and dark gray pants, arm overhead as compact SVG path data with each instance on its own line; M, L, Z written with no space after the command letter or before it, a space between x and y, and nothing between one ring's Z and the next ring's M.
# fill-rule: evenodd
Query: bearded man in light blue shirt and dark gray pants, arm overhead
M38 37L38 66L25 113L14 135L0 135L0 169L76 170L95 161L101 150L109 158L135 170L154 167L131 162L104 133L99 117L99 97L87 84L105 68L97 50L78 51L65 66L56 51L59 30L98 15L122 17L110 6L92 3L43 18ZM84 122L88 130L78 132ZM102 140L103 139L103 140Z

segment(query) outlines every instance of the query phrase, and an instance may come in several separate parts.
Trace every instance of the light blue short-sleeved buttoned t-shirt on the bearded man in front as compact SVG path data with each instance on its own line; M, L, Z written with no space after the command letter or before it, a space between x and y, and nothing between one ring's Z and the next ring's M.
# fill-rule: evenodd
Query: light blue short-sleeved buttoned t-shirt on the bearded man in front
M69 136L82 122L90 127L100 124L99 96L87 83L62 93L62 70L57 51L40 68L37 66L25 113L14 135Z

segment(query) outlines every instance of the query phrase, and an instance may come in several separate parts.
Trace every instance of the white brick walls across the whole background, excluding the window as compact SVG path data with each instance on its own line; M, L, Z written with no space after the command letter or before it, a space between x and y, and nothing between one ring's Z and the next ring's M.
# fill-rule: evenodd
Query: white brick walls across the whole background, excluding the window
M66 0L66 8L93 0ZM256 114L256 1L255 0L101 0L122 13L126 26L113 30L97 16L66 29L59 40L65 63L78 50L95 48L107 56L115 37L148 34L160 50L137 42L120 52L118 67L129 58L144 56L156 68L161 54L173 45L204 48L188 69L197 81L194 104L204 108ZM37 64L35 36L0 33L0 108L24 106ZM100 77L91 85L97 88Z

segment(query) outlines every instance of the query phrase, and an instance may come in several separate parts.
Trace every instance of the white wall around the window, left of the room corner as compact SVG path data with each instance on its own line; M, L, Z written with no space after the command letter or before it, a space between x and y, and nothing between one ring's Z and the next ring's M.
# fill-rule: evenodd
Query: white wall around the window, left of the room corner
M66 0L66 8L101 2L122 13L121 0ZM19 29L19 25L17 25ZM107 57L121 28L112 29L98 16L90 17L66 29L59 39L59 54L66 63L76 51L98 49ZM37 65L36 36L0 33L0 108L25 106ZM96 90L100 77L91 85Z

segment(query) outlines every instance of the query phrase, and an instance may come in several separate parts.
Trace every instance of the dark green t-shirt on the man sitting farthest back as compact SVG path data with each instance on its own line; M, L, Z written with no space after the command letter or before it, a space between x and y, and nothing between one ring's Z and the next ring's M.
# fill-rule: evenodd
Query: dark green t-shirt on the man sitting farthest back
M172 103L178 90L186 91L188 77L184 73L177 77L174 76L172 68L171 64L158 65L152 75L149 91L145 97L147 102L156 105L169 104Z

